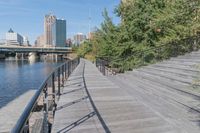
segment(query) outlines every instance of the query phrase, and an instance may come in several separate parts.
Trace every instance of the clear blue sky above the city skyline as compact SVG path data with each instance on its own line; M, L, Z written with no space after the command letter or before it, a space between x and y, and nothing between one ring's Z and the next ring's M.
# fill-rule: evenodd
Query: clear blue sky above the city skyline
M33 44L43 33L44 16L50 12L67 20L68 37L78 32L87 34L89 16L91 29L99 27L103 22L104 8L114 23L119 23L119 18L113 13L119 3L120 0L0 0L0 39L4 39L9 28L13 28L15 32L28 36Z

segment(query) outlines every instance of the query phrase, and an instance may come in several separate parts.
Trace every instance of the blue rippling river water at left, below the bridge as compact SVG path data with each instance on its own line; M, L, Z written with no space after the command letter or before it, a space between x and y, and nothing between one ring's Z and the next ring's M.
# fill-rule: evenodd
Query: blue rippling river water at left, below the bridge
M30 89L38 89L61 63L0 60L0 108Z

